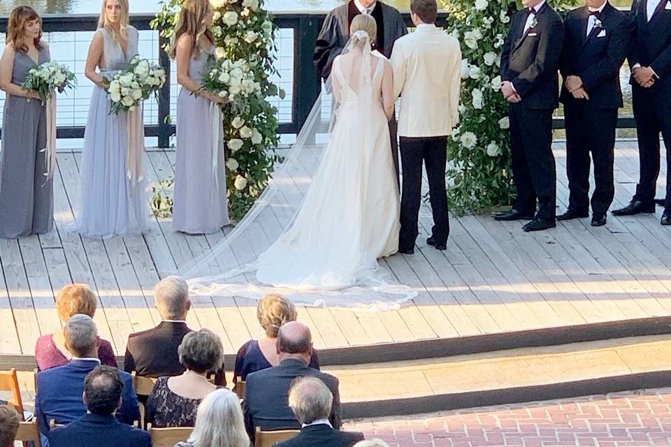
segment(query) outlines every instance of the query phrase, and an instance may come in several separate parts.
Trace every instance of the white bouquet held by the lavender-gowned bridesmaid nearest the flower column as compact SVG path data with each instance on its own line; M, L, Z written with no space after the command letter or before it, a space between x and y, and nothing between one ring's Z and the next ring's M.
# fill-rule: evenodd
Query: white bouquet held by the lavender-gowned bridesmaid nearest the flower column
M247 61L230 61L210 57L208 68L203 78L203 90L220 96L228 97L229 101L247 98L261 92L261 84L254 81L254 72Z

